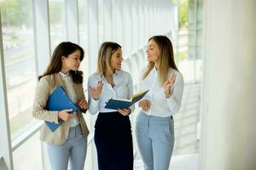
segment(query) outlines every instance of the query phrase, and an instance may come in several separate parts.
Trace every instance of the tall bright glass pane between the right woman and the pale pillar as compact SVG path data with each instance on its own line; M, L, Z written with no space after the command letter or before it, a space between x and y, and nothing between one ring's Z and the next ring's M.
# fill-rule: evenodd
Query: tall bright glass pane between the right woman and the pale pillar
M183 0L178 3L178 69L184 78L182 107L175 116L175 146L173 156L199 152L198 123L201 105L201 24L196 13L202 7L196 1ZM196 32L198 31L198 32Z

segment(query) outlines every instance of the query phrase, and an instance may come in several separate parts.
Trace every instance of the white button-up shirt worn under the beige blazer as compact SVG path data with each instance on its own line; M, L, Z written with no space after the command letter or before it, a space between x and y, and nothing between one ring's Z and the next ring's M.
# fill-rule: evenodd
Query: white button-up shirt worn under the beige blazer
M75 91L73 89L73 80L69 72L67 74L64 74L60 71L61 80L65 83L67 87L67 94L68 97L73 101L73 103L76 103L77 96L75 94ZM77 116L77 112L73 112L74 117L69 119L69 127L75 127L79 124L79 119Z

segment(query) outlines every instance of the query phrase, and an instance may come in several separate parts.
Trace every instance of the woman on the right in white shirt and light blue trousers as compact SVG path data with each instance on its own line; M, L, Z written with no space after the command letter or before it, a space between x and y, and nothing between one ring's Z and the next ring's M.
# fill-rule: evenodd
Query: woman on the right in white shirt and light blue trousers
M146 53L148 67L143 70L140 87L149 91L139 102L137 144L145 170L168 170L174 144L172 115L181 107L183 76L175 65L168 37L150 37Z

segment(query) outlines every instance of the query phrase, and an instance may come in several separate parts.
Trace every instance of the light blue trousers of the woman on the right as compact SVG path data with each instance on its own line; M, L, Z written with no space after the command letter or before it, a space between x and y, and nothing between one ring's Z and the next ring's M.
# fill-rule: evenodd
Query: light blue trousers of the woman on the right
M136 137L145 170L168 170L174 144L173 119L140 112Z

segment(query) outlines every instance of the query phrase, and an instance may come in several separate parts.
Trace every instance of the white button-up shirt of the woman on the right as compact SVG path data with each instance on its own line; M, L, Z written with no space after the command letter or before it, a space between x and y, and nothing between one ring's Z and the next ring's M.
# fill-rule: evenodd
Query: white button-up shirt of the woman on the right
M168 73L168 79L172 75L176 74L176 80L172 85L171 92L172 95L168 99L166 98L164 87L160 85L159 76L154 68L149 72L148 77L142 80L143 73L146 68L143 69L140 82L140 91L149 89L148 94L146 94L143 99L148 99L150 102L149 111L143 111L147 115L151 116L172 116L180 110L182 97L183 97L183 76L179 71L171 69ZM142 100L143 100L142 99Z

